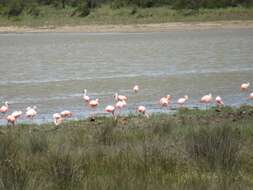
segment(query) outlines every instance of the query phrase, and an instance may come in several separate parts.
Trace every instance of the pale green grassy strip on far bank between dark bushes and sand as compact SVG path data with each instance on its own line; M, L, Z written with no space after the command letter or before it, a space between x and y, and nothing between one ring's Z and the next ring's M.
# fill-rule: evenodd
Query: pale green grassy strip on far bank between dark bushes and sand
M220 20L253 20L253 8L173 10L169 7L112 9L109 5L92 9L86 17L73 16L75 8L56 9L40 6L39 16L22 13L17 17L0 17L0 26L77 26L87 24L147 24L166 22L194 22Z

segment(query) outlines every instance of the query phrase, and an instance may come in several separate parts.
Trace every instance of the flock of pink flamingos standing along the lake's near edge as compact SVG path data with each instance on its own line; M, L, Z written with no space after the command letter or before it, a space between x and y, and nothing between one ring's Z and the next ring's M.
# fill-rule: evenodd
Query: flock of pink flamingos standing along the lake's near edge
M249 90L250 87L250 83L242 83L240 86L240 90L242 92L247 92ZM139 92L140 88L138 85L134 85L133 87L133 92L136 94ZM248 96L248 98L250 100L253 100L253 92L251 92ZM83 91L83 100L86 106L90 107L91 109L96 109L99 106L99 98L95 98L92 99L88 96L87 93L87 89L84 89ZM187 101L189 100L189 96L188 95L184 95L183 97L179 98L176 103L179 107L184 106ZM107 105L104 109L104 111L106 113L112 114L112 116L117 119L117 116L120 115L121 110L124 109L127 106L127 101L128 101L128 97L126 95L122 95L122 94L118 94L115 93L114 94L114 104L111 105ZM206 94L204 96L202 96L199 100L200 103L205 104L206 108L208 106L210 106L213 103L213 96L211 93ZM216 98L214 99L214 102L216 104L217 107L221 107L224 106L224 102L222 100L222 98L220 96L216 96ZM164 97L162 97L159 100L159 104L161 107L169 107L172 103L172 97L171 95L166 95ZM12 124L15 125L18 118L20 118L23 114L22 111L13 111L11 114L7 115L5 117L5 115L7 114L7 112L9 111L9 103L6 101L4 103L4 105L2 105L0 107L0 114L2 115L3 118L6 119L7 124ZM145 117L149 117L149 113L147 112L147 109L145 106L143 105L139 105L136 108L136 112L138 112L139 114L142 114ZM36 106L29 106L26 108L26 112L25 112L25 116L30 119L31 121L33 121L33 119L37 116L37 107ZM73 116L73 113L69 110L64 110L60 113L54 113L53 114L53 123L56 126L59 126L60 124L62 124L64 122L65 119L67 118L71 118Z

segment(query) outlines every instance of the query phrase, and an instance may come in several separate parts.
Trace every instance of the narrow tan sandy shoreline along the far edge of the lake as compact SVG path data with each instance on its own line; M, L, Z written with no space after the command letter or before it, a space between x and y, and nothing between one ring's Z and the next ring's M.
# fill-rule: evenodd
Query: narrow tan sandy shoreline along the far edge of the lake
M66 25L66 26L0 26L0 33L143 33L208 29L253 29L253 20L168 22L154 24Z

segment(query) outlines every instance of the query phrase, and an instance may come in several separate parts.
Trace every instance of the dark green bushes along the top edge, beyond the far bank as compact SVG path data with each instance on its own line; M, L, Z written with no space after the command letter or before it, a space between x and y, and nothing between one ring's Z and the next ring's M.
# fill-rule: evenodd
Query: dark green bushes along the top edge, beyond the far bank
M252 6L253 0L0 0L0 14L18 16L23 11L33 16L40 14L40 5L50 5L64 9L66 6L76 8L73 15L87 16L90 9L110 4L117 9L124 6L155 7L170 6L174 9L225 8Z

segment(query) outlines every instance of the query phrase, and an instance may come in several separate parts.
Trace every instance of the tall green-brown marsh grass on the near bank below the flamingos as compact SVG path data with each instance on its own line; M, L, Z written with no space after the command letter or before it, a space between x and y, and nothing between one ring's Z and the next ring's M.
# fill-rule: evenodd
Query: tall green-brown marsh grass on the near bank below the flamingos
M6 126L0 189L252 189L252 142L248 106Z

